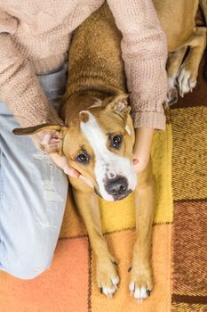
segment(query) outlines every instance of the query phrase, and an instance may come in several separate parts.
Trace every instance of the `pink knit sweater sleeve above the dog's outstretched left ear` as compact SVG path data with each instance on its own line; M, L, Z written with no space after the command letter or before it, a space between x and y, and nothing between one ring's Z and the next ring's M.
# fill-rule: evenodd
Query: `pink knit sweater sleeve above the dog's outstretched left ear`
M17 22L0 9L0 101L8 105L21 127L58 124L61 121L48 103L32 65L12 42Z

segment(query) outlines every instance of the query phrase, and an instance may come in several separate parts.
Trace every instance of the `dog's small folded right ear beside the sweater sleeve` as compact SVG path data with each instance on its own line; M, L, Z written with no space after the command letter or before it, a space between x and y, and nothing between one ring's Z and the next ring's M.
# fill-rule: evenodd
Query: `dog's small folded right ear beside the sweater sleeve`
M107 104L106 110L112 110L121 118L126 118L131 111L131 107L127 102L128 94L119 94Z

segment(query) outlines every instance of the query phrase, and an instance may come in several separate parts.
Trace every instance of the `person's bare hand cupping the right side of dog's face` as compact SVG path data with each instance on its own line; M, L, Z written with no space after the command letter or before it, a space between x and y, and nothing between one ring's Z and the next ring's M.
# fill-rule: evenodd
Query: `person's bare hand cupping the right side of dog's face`
M133 165L137 173L147 168L151 152L153 134L153 128L142 127L139 129L135 129Z

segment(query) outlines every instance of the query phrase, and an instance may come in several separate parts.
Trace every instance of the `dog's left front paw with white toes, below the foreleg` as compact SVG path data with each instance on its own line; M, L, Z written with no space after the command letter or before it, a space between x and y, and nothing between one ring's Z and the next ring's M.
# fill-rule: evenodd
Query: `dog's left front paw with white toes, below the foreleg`
M112 299L113 294L117 291L117 285L119 283L119 277L115 270L114 259L101 260L97 263L97 283L100 288L100 292L104 293L108 299Z

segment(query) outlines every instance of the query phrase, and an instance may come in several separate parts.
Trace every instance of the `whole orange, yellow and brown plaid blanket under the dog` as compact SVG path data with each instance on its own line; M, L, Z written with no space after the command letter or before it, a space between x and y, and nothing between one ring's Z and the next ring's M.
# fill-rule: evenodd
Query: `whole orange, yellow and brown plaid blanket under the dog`
M207 107L203 106L207 102L206 90L200 75L194 93L171 111L167 130L155 134L155 287L151 296L139 305L128 290L135 234L133 194L115 203L100 201L104 232L109 249L118 260L121 277L113 300L101 295L95 283L90 243L68 196L52 267L30 281L0 272L1 311L207 311Z

